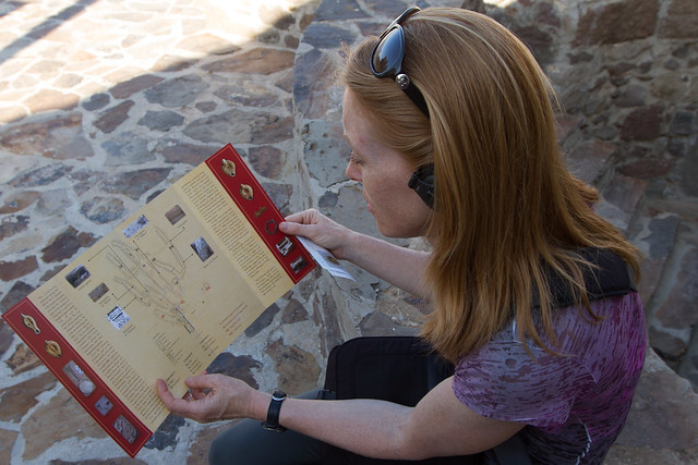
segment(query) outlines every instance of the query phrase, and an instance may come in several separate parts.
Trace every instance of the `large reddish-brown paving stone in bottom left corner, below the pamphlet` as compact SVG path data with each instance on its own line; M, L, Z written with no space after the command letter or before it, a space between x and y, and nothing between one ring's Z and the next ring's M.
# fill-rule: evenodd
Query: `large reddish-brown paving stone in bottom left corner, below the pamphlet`
M22 423L22 436L25 440L22 458L31 461L65 439L101 439L106 438L107 433L68 391L61 389Z

